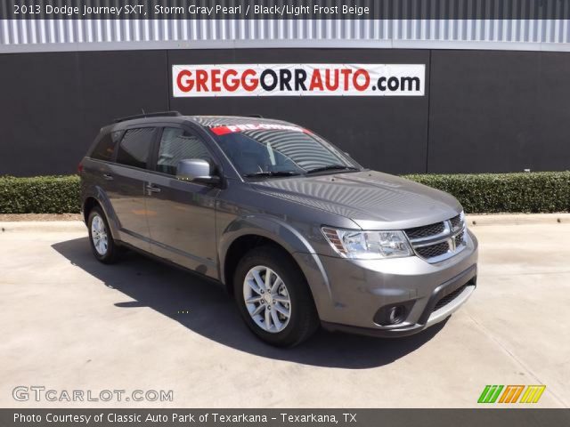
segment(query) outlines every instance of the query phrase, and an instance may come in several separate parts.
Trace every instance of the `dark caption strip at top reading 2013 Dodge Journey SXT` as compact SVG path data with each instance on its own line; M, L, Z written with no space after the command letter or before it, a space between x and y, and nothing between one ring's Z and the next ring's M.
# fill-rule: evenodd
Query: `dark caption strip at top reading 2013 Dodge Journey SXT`
M567 20L570 0L2 0L0 19Z

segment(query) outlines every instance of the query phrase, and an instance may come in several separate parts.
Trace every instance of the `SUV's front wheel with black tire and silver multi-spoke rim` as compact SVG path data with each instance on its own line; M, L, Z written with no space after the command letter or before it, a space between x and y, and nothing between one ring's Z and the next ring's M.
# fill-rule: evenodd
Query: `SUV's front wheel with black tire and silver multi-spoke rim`
M249 329L271 345L293 347L320 325L305 276L279 248L261 246L249 251L235 271L233 289Z

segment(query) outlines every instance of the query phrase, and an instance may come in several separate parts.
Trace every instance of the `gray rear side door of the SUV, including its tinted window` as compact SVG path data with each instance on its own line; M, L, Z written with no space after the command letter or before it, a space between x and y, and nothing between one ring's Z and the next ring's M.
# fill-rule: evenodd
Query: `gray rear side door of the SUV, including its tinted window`
M105 176L120 239L148 252L151 246L145 184L151 175L149 159L157 134L158 128L154 126L127 129L118 144L116 163L110 165Z

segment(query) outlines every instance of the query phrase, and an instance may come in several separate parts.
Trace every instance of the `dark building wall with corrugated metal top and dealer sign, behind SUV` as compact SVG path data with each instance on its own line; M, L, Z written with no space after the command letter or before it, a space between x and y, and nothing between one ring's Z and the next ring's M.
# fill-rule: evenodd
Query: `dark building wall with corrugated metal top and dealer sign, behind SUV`
M465 2L509 4L485 16L434 3L257 19L22 19L4 4L0 174L74 173L103 125L164 110L287 120L388 173L570 169L570 2Z

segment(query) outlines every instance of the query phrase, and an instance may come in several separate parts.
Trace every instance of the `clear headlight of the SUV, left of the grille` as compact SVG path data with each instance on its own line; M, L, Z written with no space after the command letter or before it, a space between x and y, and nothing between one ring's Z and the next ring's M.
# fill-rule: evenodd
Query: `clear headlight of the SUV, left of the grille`
M323 227L322 233L330 246L346 258L375 260L412 254L403 231L337 230Z

